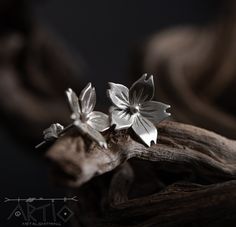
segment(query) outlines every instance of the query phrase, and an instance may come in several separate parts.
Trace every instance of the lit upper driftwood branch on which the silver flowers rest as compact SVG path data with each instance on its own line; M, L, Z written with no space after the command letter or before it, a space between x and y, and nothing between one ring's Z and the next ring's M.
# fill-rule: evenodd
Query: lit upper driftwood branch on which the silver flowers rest
M208 183L236 178L236 142L197 127L175 122L159 126L150 148L125 132L108 132L108 149L86 144L80 136L64 137L46 156L63 170L63 183L77 187L112 171L130 158L155 161L173 172L187 171Z

